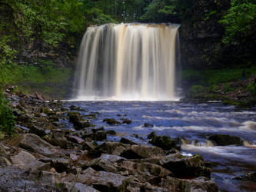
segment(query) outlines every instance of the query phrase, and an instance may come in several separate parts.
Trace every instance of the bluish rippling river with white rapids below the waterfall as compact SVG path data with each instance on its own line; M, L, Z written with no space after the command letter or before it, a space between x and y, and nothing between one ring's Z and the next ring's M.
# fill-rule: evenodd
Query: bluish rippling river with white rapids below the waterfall
M67 102L85 111L97 112L92 123L106 130L115 130L117 136L110 141L126 137L138 144L148 144L147 135L182 137L181 152L185 155L202 154L204 161L216 164L211 174L218 187L224 191L254 191L255 184L234 180L242 174L256 171L256 109L238 110L218 103L189 104L171 101L82 101ZM104 118L131 119L131 124L110 126ZM145 123L154 127L144 127ZM241 137L241 146L214 146L211 134L230 134ZM135 137L138 135L138 137Z

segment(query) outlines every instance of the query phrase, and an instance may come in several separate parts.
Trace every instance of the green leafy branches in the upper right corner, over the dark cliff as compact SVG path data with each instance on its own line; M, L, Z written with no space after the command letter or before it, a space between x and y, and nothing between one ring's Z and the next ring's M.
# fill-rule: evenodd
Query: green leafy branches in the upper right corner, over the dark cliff
M254 0L232 0L228 14L221 19L226 30L223 42L239 45L256 33L256 2ZM255 41L255 40L254 40Z

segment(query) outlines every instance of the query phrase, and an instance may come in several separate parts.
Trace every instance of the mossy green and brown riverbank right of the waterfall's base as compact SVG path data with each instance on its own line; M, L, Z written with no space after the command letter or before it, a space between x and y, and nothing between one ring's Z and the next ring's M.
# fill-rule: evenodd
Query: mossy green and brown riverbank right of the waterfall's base
M256 104L255 68L185 70L181 79L187 87L181 101L222 101L240 108L251 108Z

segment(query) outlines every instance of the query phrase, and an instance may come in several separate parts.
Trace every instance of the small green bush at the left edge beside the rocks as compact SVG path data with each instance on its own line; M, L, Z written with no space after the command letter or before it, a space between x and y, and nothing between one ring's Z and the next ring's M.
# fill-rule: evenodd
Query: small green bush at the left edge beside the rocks
M12 136L15 131L15 116L12 114L12 110L8 108L7 101L0 93L0 131Z

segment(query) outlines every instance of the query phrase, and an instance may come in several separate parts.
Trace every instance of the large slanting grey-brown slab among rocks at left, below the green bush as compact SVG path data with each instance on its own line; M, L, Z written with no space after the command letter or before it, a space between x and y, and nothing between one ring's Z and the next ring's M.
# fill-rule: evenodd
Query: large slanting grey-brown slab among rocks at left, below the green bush
M56 147L43 141L35 134L18 134L8 141L8 144L15 147L22 147L25 150L32 151L35 154L42 154L46 157L56 157L60 155Z

